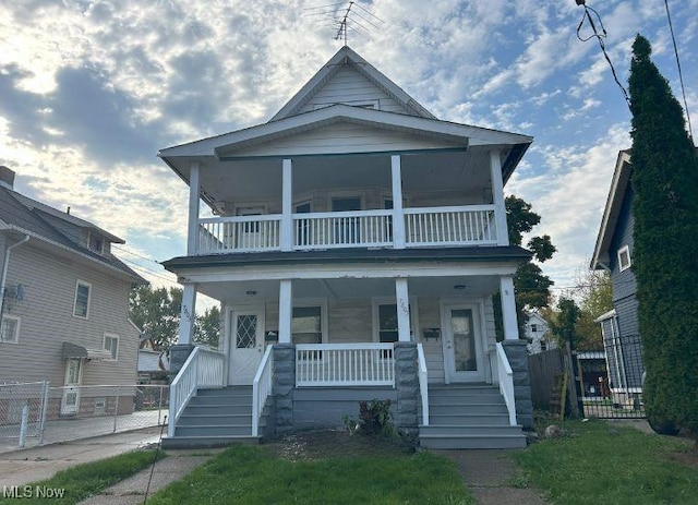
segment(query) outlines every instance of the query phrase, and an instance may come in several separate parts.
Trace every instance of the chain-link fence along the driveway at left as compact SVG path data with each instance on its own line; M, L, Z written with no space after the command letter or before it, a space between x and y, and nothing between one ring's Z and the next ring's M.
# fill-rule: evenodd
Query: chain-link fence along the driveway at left
M0 385L0 444L24 447L164 426L168 385Z

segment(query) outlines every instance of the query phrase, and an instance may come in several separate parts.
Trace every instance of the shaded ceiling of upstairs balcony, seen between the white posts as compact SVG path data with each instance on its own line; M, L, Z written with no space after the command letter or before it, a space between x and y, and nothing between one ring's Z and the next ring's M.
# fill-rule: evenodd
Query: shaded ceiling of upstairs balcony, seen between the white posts
M390 189L390 154L304 156L293 159L293 194L313 190ZM484 148L404 154L402 190L438 191L490 187L490 156ZM281 199L281 159L210 161L201 171L209 204ZM219 206L219 205L218 205Z

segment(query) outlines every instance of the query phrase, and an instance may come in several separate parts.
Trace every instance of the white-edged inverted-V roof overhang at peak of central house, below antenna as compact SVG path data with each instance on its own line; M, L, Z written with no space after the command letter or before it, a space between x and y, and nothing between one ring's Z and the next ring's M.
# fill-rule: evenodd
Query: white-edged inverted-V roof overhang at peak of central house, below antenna
M342 69L351 69L353 72L366 79L381 92L393 98L405 113L421 118L436 119L429 110L422 107L414 98L408 95L400 86L395 84L371 63L361 58L350 47L339 49L325 65L269 120L278 121L290 116L296 116L317 93L337 75Z

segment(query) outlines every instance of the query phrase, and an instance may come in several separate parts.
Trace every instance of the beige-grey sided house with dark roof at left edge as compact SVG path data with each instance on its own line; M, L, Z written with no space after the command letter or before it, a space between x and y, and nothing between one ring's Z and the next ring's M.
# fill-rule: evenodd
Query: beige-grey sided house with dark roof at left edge
M76 386L135 384L140 330L129 321L129 291L145 280L111 253L123 240L13 183L0 167L0 384L65 386L51 396L49 417L99 412L109 395ZM121 394L119 410L132 409L133 392Z

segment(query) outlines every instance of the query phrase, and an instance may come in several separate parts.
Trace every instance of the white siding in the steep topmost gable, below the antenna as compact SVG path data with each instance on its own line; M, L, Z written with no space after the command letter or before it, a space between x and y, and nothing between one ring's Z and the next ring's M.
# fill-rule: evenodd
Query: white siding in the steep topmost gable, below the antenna
M361 75L352 67L340 69L309 103L299 110L299 113L310 112L317 107L327 107L334 104L356 104L375 101L380 110L388 112L408 113L397 101L390 98L383 89L378 88Z

